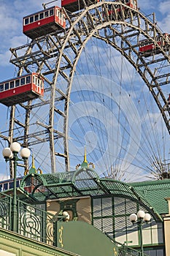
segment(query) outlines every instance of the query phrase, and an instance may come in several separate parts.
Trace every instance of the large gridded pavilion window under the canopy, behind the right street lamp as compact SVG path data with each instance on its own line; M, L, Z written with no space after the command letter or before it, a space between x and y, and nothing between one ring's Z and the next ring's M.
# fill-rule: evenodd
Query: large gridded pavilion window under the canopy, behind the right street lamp
M131 246L139 246L139 226L132 226L129 216L137 212L138 202L125 197L93 197L93 225L111 238L120 243L130 243ZM145 208L142 208L146 212ZM163 223L144 223L142 226L143 244L146 246L163 244ZM161 248L160 248L161 249ZM148 254L150 255L150 254ZM154 255L158 256L158 255ZM161 252L160 255L161 256Z

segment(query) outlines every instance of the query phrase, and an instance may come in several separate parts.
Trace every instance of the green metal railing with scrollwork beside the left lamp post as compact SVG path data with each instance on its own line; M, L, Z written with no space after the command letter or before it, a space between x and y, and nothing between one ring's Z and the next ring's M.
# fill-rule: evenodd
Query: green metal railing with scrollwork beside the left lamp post
M12 230L12 197L0 193L0 227ZM17 233L55 246L55 215L17 200Z

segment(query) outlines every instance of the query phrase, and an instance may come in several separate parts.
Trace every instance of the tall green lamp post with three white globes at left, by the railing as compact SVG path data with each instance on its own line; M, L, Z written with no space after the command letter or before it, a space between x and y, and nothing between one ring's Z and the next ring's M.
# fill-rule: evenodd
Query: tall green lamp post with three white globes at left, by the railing
M12 197L12 231L17 232L17 165L18 161L24 161L28 159L31 152L28 148L22 148L20 151L20 157L18 158L18 153L20 151L20 143L14 142L11 144L10 148L4 148L2 151L3 157L6 162L12 161L14 167L14 186L13 186L13 197Z

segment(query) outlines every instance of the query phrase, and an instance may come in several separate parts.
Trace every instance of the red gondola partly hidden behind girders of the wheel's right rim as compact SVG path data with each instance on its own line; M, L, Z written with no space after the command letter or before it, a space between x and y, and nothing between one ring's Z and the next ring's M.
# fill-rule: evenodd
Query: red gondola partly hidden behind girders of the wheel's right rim
M170 35L163 34L155 38L157 44L165 50L167 46L170 46ZM154 43L152 39L144 39L139 42L139 53L145 57L152 56L153 54L161 53L161 49ZM167 48L168 50L169 48Z

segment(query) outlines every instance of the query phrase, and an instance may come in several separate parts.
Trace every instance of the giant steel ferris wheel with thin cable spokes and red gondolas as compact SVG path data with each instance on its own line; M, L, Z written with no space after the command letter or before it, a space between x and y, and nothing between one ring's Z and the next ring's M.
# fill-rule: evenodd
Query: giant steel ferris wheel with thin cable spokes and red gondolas
M10 49L18 67L14 83L31 74L43 91L35 97L27 91L28 101L0 99L9 121L1 144L31 148L44 173L75 170L86 148L100 176L163 178L169 173L169 34L136 1L64 2L62 9L23 18L30 41ZM41 27L52 16L60 19Z

